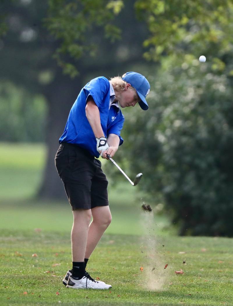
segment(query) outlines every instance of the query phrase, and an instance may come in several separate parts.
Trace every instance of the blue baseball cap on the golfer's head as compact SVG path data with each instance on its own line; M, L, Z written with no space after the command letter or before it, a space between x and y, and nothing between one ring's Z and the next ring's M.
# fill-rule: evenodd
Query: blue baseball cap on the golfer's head
M150 92L150 84L140 73L137 72L127 72L125 76L123 76L122 80L130 84L133 88L136 89L137 94L139 95L139 98L141 101L139 101L139 105L141 109L148 110L148 104L146 101L146 96Z

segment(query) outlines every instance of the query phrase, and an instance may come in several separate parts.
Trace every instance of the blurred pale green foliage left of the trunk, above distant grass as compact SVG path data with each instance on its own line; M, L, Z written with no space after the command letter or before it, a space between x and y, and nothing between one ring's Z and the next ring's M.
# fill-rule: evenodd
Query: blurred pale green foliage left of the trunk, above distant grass
M0 100L1 141L44 140L47 106L43 96L31 95L10 82L2 82Z

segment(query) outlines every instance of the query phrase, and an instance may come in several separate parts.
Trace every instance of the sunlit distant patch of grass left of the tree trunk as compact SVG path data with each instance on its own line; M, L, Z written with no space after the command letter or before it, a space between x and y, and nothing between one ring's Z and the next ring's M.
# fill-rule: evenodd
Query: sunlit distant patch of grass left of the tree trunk
M34 195L45 155L43 144L0 143L1 200L18 201Z

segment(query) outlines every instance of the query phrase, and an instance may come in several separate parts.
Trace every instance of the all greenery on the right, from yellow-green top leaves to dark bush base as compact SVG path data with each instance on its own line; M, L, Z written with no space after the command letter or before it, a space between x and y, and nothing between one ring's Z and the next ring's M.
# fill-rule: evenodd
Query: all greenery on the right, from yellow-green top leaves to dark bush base
M145 56L161 68L147 118L130 116L124 155L181 235L233 236L232 3L137 1L137 9L151 31Z

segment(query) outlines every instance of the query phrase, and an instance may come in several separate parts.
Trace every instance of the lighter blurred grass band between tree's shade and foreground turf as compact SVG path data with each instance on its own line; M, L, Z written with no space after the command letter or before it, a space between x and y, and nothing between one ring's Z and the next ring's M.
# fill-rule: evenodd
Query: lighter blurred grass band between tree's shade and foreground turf
M16 230L34 230L40 228L43 231L70 232L73 222L69 203L47 203L36 201L17 201L11 203L0 202L1 222L0 229L11 230L12 225ZM111 207L112 223L106 233L142 235L141 209L138 207L124 207L113 205ZM155 217L154 228L157 232L168 235L174 230L169 228L168 220L161 216Z

